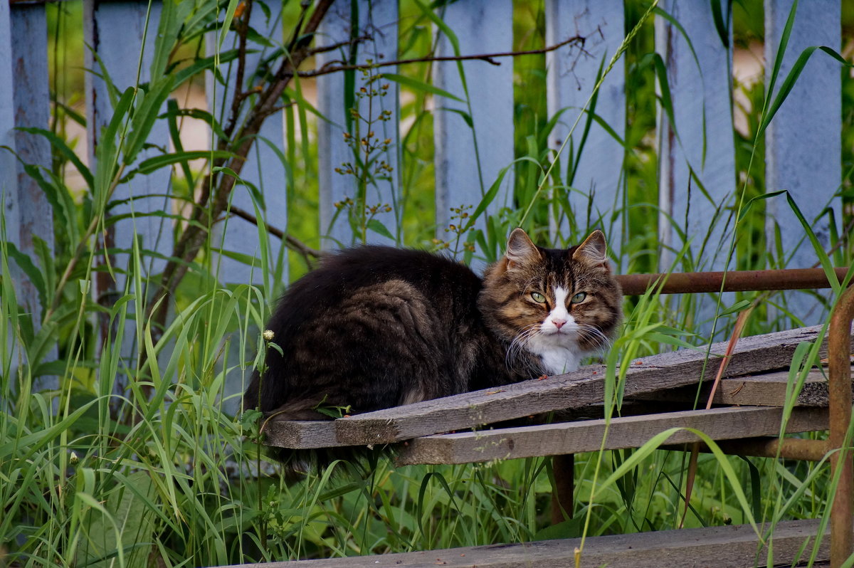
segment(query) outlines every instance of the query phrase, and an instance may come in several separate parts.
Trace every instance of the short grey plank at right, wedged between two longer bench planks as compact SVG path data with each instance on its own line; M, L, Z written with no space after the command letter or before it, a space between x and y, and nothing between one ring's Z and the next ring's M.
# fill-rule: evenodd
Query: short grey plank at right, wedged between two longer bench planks
M807 374L804 387L795 397L796 407L827 407L827 373L814 369ZM715 393L715 404L738 404L755 407L782 407L786 404L787 371L770 372L748 377L725 378ZM699 400L708 400L711 385L700 391ZM696 387L668 390L661 393L635 396L638 401L693 401ZM854 397L852 397L854 399Z

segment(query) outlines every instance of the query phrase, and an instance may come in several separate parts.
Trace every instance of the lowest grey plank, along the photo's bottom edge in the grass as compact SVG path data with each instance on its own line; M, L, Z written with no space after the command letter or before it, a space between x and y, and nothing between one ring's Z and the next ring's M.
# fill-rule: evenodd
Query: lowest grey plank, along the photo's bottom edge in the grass
M781 521L775 524L770 541L774 565L795 565L809 558L819 520ZM763 530L769 530L766 526ZM817 560L830 556L830 539L822 538ZM805 546L804 546L805 545ZM575 566L579 538L520 544L489 544L481 547L446 548L416 553L380 554L336 559L245 564L234 568L286 568L328 566L329 568L436 568L436 565L477 568L565 568ZM699 529L659 530L633 535L593 536L584 541L582 568L631 566L632 568L697 568L698 566L753 566L765 559L767 545L749 524ZM764 562L764 560L763 560Z

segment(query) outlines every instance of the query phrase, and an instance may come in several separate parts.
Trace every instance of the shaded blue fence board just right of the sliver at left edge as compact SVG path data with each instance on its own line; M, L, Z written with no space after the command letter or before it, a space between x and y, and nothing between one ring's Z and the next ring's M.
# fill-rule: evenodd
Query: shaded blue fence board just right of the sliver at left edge
M13 4L12 84L15 89L15 126L47 129L50 126L50 86L48 84L48 27L44 4ZM15 149L21 160L50 169L50 143L47 138L26 132L15 132ZM38 237L53 250L53 210L38 184L17 162L19 210L18 248L38 265L35 241ZM19 285L20 284L20 285ZM16 284L18 302L32 310L36 330L42 320L38 291L29 278ZM48 355L56 358L56 347ZM57 389L57 377L39 377L33 390Z

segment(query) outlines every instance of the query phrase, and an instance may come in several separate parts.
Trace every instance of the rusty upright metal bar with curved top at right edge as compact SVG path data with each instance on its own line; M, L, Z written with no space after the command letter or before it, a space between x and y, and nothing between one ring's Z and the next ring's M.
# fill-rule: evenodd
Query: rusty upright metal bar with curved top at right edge
M848 288L834 307L828 337L830 395L829 447L839 448L830 458L832 476L839 471L839 485L830 511L830 565L841 566L851 556L854 533L851 517L854 511L854 464L845 447L845 435L851 425L851 319L854 319L854 288ZM850 442L849 442L850 443Z

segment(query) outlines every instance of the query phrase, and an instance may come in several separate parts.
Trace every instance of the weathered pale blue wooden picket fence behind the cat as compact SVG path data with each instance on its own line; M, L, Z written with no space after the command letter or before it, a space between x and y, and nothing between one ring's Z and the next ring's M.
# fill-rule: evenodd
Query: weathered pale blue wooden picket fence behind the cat
M780 42L793 0L765 0L767 61L774 61L776 46ZM395 0L358 0L360 28L371 32L372 40L358 55L360 61L368 58L377 60L397 55L398 6ZM655 16L656 51L663 58L670 98L673 101L676 128L668 116L658 117L659 155L659 220L660 240L667 246L677 243L673 225L689 237L697 237L692 244L694 254L699 253L701 236L715 225L713 237L706 243L704 255L707 261L699 268L721 269L727 254L732 222L726 222L726 213L721 211L734 203L736 173L733 141L733 97L732 97L732 26L728 21L728 2L721 0L722 21L716 26L714 3L708 0L662 0L662 10ZM159 20L161 4L150 3L149 36L143 50L143 32L149 3L132 1L102 2L84 0L85 40L91 46L87 50L86 67L95 68L95 56L108 69L111 78L120 87L134 85L137 81L137 60L143 52L143 76L149 67L154 37ZM839 50L840 45L840 0L813 0L802 2L798 8L789 47L782 61L782 76L792 67L804 47L827 45ZM451 41L447 34L438 34L439 55L471 55L484 52L501 52L512 49L512 1L511 0L460 0L440 9L440 15L456 36ZM346 40L351 34L351 3L337 0L320 29L323 44ZM669 16L665 17L664 14ZM281 15L273 14L264 20L260 10L253 12L253 25L264 29L268 38L280 43ZM584 102L593 89L596 73L610 61L617 46L625 37L622 0L546 0L547 44L556 44L576 34L586 36L585 55L570 45L547 55L547 100L550 114L562 112L559 126L549 141L550 148L559 149L572 122L581 112ZM690 41L689 41L690 40ZM228 43L226 38L225 44ZM209 44L213 44L209 42ZM458 47L454 47L457 44ZM50 149L44 139L14 131L15 126L47 127L50 117L50 93L48 91L48 67L46 64L47 27L44 3L0 3L0 73L12 77L11 81L0 81L0 143L16 149L27 161L50 166ZM210 48L208 48L210 50ZM223 48L225 49L225 47ZM263 53L254 57L263 56ZM318 56L318 64L340 58L336 52ZM437 62L434 84L462 100L471 100L471 108L465 103L447 97L434 97L436 137L436 211L438 226L447 225L448 208L460 204L477 204L483 191L494 183L500 170L513 158L513 97L512 59L502 61L500 67L486 61L465 61L465 97L463 82L456 62ZM770 67L770 66L768 66ZM231 69L224 66L222 73ZM395 68L385 67L384 72L395 73ZM770 71L768 70L767 73ZM602 85L596 114L610 124L613 132L606 132L594 123L588 133L587 143L580 167L568 199L576 208L585 207L588 199L593 200L594 211L611 219L611 212L623 208L618 202L625 195L621 187L626 180L621 177L623 146L615 139L624 138L626 116L624 61L616 67ZM251 80L251 79L247 79ZM400 126L398 124L399 93L392 85L389 96L383 97L383 108L392 112L393 120L383 123L383 137L392 140L389 155L395 174L386 184L380 184L377 195L369 202L389 203L392 210L383 212L387 226L397 226L395 215L399 215L401 182L396 178L396 167L400 155ZM778 85L780 82L778 81ZM319 77L318 108L328 121L318 122L319 143L319 187L320 228L328 232L324 246L335 248L337 243L349 243L349 229L339 222L330 228L335 208L333 203L344 196L354 194L354 179L334 173L334 167L346 161L350 150L342 140L343 125L346 123L343 103L343 78L341 73ZM779 88L779 86L778 86ZM210 108L217 113L227 103L226 95L208 81ZM112 113L109 97L97 74L86 74L86 114L89 121L89 161L94 161L94 149L100 128ZM839 64L826 56L813 57L804 76L798 81L787 101L776 115L765 133L767 160L765 173L767 190L790 190L804 210L807 219L818 219L814 227L821 243L828 247L827 215L822 210L829 206L839 216L841 203L832 202L834 192L841 183L840 164L840 74ZM561 111L561 109L566 110ZM471 114L474 130L466 124L462 115L454 110ZM252 167L243 170L243 177L259 187L265 196L266 217L272 225L286 224L286 191L284 164L279 160L273 146L284 147L283 119L281 114L267 120L262 136L271 144L257 143L249 161ZM477 138L472 135L476 132ZM573 134L574 143L579 143L581 129ZM705 139L704 139L705 136ZM168 132L165 123L155 126L150 143L167 147ZM156 152L156 150L154 150ZM33 236L43 237L50 246L52 225L50 207L38 186L23 175L20 165L8 152L0 153L0 179L3 183L3 207L6 216L6 231L9 240L26 254L37 246ZM120 188L115 198L155 196L128 202L136 213L170 209L173 205L162 194L170 183L167 170L137 178L133 184ZM494 207L509 203L512 190L512 173L501 185ZM591 197L592 196L592 197ZM251 202L245 192L235 196L235 204L251 211ZM793 220L793 215L778 201L768 205L768 231L773 235L777 227L781 231L783 247L792 260L790 267L811 266L815 255L809 243L804 243L803 231ZM582 206L582 204L584 204ZM671 222L672 220L672 222ZM429 220L428 222L432 222ZM143 235L147 249L163 255L170 253L172 226L161 217L141 217L121 220L112 232L115 246L126 248L133 229ZM606 228L608 228L606 226ZM552 221L552 234L556 240L565 237L566 220L556 215ZM619 242L621 227L613 225L611 243ZM228 221L225 231L219 232L223 247L246 255L258 255L257 229L239 219ZM439 237L444 235L440 234ZM773 242L773 239L769 239ZM281 246L281 245L279 245ZM709 247L717 254L709 254ZM273 250L275 257L278 250ZM662 255L662 268L670 266L672 255ZM249 282L254 278L250 266L223 259L225 269L220 274L230 282ZM162 261L152 260L149 267L157 272ZM730 266L732 267L732 266ZM257 268L254 269L257 273ZM20 272L16 272L20 274ZM18 276L17 290L26 306L38 310L38 297L26 278ZM257 281L257 278L256 278ZM105 291L105 290L101 290ZM795 313L804 315L810 310L804 303L797 306ZM38 319L38 318L37 318Z

